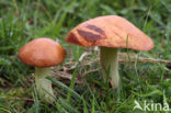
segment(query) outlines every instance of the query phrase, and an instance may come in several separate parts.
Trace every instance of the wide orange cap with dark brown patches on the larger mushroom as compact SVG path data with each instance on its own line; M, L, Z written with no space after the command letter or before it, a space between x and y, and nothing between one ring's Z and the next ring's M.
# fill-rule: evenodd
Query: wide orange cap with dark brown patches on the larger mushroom
M135 50L149 50L153 47L153 42L148 35L118 15L88 20L71 30L66 41L80 46L105 46Z

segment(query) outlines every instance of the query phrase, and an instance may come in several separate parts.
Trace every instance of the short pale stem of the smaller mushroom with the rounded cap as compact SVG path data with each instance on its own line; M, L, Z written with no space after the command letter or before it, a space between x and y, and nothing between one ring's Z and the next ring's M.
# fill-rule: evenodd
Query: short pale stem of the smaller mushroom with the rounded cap
M47 101L54 101L54 92L52 88L52 81L46 79L46 77L52 76L52 70L47 68L35 68L35 83L38 95Z

